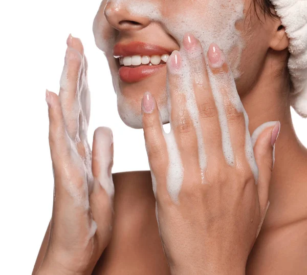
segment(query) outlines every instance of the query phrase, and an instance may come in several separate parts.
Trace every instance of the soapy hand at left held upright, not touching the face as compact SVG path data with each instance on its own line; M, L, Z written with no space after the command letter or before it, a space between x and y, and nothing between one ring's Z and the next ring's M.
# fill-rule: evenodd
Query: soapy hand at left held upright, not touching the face
M80 39L71 35L59 96L46 92L54 203L45 258L37 274L91 274L111 239L113 137L108 128L87 142L90 93Z

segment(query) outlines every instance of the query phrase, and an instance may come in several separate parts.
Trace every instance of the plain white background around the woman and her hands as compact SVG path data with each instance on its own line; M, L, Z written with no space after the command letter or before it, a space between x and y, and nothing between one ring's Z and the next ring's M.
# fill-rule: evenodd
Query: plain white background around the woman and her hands
M2 1L0 4L0 273L31 274L51 217L53 176L45 91L59 90L69 33L80 37L89 61L92 113L89 129L114 133L113 172L147 170L142 130L120 120L104 55L92 23L99 0ZM293 112L307 145L306 121Z

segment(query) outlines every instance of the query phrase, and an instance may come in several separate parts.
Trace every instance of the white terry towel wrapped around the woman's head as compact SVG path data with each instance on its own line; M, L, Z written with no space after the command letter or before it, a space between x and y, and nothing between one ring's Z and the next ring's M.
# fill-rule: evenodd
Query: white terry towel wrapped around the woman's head
M291 105L307 117L307 0L271 0L290 40Z

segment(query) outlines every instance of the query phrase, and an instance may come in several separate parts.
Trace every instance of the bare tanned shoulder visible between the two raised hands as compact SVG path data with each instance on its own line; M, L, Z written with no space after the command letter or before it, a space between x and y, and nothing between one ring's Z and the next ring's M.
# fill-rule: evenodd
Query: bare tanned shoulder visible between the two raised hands
M118 173L113 181L113 235L93 274L168 275L150 172Z

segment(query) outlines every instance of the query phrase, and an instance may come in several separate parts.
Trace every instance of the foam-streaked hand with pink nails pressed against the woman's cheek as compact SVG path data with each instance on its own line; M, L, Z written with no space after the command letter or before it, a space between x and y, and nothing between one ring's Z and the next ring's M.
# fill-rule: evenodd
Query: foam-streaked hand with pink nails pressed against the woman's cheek
M172 274L245 274L268 208L280 123L251 138L222 51L211 45L207 65L194 36L183 45L167 61L170 133L151 94L142 101L161 240Z

